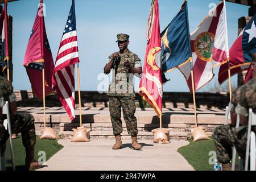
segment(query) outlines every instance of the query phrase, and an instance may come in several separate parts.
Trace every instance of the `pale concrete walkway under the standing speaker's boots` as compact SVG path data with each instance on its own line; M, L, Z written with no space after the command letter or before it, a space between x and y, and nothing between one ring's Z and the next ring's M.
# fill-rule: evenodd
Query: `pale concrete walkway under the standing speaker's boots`
M131 149L130 140L122 140L122 150L112 150L114 140L90 140L88 143L58 141L64 146L40 171L188 171L193 167L177 149L188 144L185 140L172 140L169 144L156 144L139 140L143 150Z

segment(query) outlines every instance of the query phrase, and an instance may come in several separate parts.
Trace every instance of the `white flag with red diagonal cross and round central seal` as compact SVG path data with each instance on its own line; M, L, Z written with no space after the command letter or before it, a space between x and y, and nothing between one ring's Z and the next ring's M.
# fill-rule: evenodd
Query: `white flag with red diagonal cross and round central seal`
M214 66L224 64L228 55L225 3L219 3L191 34L191 51L195 90L214 77ZM192 92L191 64L179 68Z

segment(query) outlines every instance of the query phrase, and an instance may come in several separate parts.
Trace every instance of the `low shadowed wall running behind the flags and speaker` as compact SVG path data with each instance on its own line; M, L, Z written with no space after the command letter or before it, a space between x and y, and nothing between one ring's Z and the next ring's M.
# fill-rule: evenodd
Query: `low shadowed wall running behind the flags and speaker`
M33 93L27 90L15 90L16 101L18 106L43 106L42 101L36 100ZM78 92L76 92L76 105L78 104ZM109 98L106 94L100 94L96 91L82 91L81 103L82 107L108 107ZM135 98L137 107L147 107L136 93ZM223 109L229 103L229 93L196 93L196 107L207 109ZM52 94L46 97L47 107L61 106L59 98ZM193 96L188 92L164 92L163 93L163 107L167 108L192 108Z

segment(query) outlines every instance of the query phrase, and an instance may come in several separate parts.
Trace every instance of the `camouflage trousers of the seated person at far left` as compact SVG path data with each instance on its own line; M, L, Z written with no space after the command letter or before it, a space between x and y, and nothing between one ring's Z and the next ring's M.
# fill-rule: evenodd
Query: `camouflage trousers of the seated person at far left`
M23 146L28 150L34 150L36 142L34 117L31 114L21 113L11 117L11 131L13 134L22 134ZM9 133L3 126L3 121L0 120L0 146L1 154L5 151L6 140L9 138Z

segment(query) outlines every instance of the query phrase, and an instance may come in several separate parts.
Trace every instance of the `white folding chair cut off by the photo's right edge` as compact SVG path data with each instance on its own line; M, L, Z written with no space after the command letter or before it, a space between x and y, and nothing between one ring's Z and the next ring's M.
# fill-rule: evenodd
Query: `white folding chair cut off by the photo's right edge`
M249 119L248 119L248 130L247 130L247 143L246 143L246 155L245 155L245 171L248 170L249 166L249 156L250 156L250 170L255 171L255 133L251 131L251 126L256 126L256 113L249 109Z

